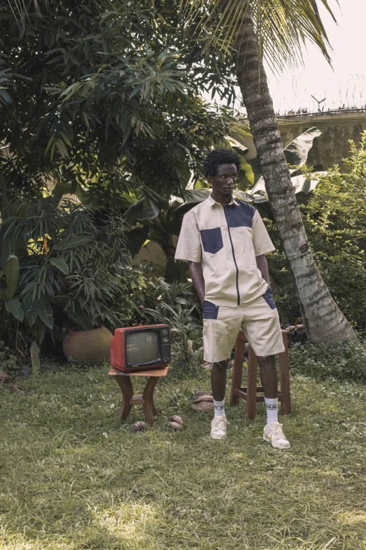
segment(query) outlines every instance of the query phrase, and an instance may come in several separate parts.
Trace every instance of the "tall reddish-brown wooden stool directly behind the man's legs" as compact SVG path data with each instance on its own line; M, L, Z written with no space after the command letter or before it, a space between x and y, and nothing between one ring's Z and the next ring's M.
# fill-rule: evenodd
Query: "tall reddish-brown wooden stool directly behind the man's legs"
M287 345L287 330L282 331L283 345L285 351L278 354L280 363L280 391L278 391L278 400L282 401L283 414L290 414L290 375L288 371L288 345ZM255 404L264 402L264 395L257 395L262 392L262 386L257 386L257 355L249 346L248 350L248 376L247 386L241 386L241 378L243 375L243 360L245 342L247 341L245 334L240 330L235 344L235 355L233 361L233 379L231 381L230 405L238 405L239 398L245 399L247 417L251 420L255 419Z

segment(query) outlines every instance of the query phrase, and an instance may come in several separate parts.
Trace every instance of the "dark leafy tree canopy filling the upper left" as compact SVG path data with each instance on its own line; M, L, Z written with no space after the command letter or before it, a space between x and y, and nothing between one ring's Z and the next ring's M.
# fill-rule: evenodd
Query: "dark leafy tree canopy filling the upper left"
M49 1L41 15L33 8L20 24L0 0L8 193L38 195L53 182L113 207L182 195L205 148L232 122L197 95L225 81L217 55L203 67L199 48L182 50L177 6L168 0Z

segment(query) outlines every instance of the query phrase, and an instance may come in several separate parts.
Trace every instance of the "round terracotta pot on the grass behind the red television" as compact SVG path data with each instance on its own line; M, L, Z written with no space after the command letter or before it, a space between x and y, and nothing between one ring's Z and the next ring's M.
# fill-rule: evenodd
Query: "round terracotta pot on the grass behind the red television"
M111 357L111 332L105 327L76 332L69 330L62 340L62 349L67 358L81 365L95 365L109 361Z

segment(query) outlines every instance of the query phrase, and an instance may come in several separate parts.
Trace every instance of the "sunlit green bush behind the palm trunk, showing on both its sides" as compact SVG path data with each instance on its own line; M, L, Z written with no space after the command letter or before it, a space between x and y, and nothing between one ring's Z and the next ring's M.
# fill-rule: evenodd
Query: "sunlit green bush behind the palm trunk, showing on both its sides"
M338 306L359 332L366 332L366 133L359 145L350 141L348 171L338 166L319 178L311 198L301 207L306 233L323 279ZM266 220L276 253L269 267L281 322L300 315L294 285L273 221Z

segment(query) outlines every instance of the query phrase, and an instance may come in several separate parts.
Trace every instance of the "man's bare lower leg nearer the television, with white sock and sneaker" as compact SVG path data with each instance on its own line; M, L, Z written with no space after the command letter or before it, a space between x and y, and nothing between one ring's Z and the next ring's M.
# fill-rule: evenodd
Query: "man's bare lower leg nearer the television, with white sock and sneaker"
M211 422L212 439L226 438L225 390L227 361L212 363L211 388L215 416Z

